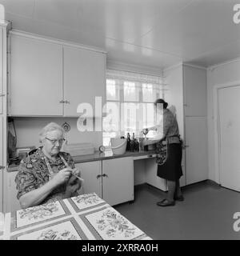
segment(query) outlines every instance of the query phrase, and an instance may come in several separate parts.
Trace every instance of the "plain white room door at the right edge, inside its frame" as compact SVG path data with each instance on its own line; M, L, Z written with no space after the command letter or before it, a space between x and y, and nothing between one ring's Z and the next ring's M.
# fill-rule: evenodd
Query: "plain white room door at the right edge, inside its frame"
M222 186L240 191L240 85L218 90L219 166Z

